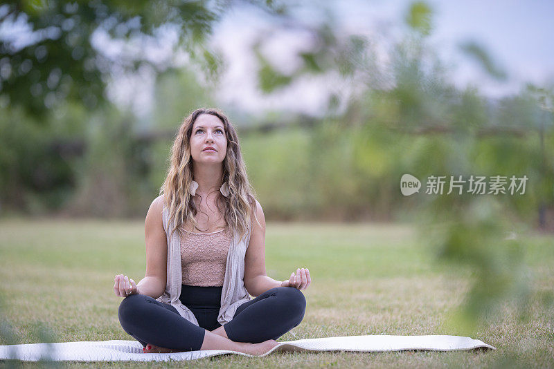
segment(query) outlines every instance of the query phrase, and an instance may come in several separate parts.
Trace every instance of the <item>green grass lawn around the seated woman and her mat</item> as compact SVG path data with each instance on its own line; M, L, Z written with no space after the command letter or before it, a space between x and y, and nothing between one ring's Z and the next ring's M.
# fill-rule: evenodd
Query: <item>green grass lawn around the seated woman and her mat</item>
M537 293L552 296L554 237L528 234L526 263ZM463 301L469 271L437 263L409 225L267 225L267 274L285 279L309 267L303 322L279 341L359 334L458 334L445 325ZM114 275L139 281L145 271L141 221L3 220L0 278L3 315L18 343L132 339L120 327ZM288 352L265 358L226 355L179 363L102 363L102 366L196 367L468 367L506 364L554 367L554 308L532 303L529 321L510 305L474 334L496 351ZM6 344L6 341L1 341ZM36 366L25 363L24 366ZM98 363L62 363L98 367Z

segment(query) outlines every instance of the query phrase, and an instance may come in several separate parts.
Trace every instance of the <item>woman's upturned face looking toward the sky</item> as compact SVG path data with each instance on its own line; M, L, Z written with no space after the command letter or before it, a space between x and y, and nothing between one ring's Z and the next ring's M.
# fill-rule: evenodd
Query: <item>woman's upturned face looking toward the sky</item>
M190 134L190 155L197 163L223 162L227 152L227 137L223 122L211 114L200 114Z

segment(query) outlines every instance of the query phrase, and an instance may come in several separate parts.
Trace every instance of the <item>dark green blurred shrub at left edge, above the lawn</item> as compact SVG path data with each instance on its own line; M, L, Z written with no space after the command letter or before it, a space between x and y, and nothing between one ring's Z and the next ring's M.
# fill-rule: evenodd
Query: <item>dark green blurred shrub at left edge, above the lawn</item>
M79 131L78 127L70 119L56 120L49 128L37 127L20 109L0 115L2 205L33 213L64 205L75 173L72 160L58 153L57 140L67 137L71 131Z

